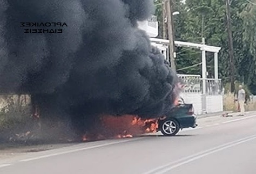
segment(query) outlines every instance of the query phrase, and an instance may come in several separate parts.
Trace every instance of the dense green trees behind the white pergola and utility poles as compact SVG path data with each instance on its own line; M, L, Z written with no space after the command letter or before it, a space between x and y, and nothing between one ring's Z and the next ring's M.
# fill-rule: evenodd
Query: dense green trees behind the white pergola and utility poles
M156 15L162 31L163 0L156 0ZM175 39L180 41L201 42L204 37L207 45L221 47L219 53L219 78L224 83L230 81L228 38L226 31L226 7L223 0L173 0ZM244 82L256 94L256 1L230 1L232 36L234 46L235 80ZM159 33L161 38L162 33ZM200 50L177 48L177 71L179 74L200 74ZM185 67L191 68L184 69ZM181 70L179 70L181 69ZM207 53L208 78L214 75L213 54Z

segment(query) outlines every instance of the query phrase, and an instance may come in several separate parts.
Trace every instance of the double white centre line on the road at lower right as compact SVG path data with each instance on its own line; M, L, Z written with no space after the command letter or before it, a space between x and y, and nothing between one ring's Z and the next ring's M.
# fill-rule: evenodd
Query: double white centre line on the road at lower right
M187 156L187 157L184 157L184 158L180 158L177 161L173 161L173 162L170 162L168 164L161 165L161 166L159 166L157 168L154 168L150 171L147 171L143 174L152 174L152 173L161 174L161 173L165 173L165 172L167 172L171 169L177 168L180 165L184 165L186 163L195 161L196 159L202 158L204 156L216 153L218 151L221 151L221 150L224 150L224 149L227 149L227 148L230 148L230 147L233 147L233 146L236 146L238 144L241 144L241 143L244 143L244 142L247 142L247 141L251 141L251 140L254 140L254 139L256 139L256 135L247 136L245 138L242 138L242 139L239 139L239 140L236 140L236 141L232 141L232 142L229 142L229 143L225 143L225 144L222 144L220 146L217 146L217 147L214 147L214 148L211 148L211 149L208 149L208 150L200 151L197 154L193 154L193 155L190 155L190 156ZM175 165L173 165L173 164L175 164ZM172 165L172 166L170 166L170 165Z

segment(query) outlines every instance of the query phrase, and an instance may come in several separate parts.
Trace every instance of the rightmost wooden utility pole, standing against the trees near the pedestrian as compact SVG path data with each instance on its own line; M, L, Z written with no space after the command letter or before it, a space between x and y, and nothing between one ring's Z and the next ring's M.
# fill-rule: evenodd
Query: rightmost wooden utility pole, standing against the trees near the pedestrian
M231 92L234 92L234 48L233 48L233 38L231 31L231 15L230 15L230 0L226 1L226 17L227 17L227 34L228 34L228 53L230 56L230 83Z

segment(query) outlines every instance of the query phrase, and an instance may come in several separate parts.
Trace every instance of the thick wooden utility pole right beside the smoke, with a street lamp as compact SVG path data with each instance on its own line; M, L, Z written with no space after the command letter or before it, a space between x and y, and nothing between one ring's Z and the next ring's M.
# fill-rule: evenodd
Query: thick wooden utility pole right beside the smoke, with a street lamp
M172 19L172 0L166 0L166 13L167 13L167 30L169 38L169 52L170 52L170 63L171 69L176 72L175 64L175 48L174 48L174 31L173 31L173 19Z

